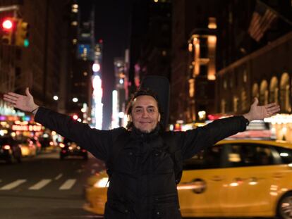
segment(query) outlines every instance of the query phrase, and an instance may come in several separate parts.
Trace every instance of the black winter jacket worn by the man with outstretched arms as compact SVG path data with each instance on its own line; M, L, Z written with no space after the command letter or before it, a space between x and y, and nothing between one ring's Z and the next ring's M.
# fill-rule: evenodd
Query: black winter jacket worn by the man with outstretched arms
M109 161L116 137L125 132L123 127L114 130L92 129L67 115L42 107L37 111L35 121L78 142L105 162ZM246 122L243 116L234 116L215 120L195 130L173 134L184 160L221 139L243 132ZM174 162L159 130L142 134L134 129L128 134L129 142L119 152L111 175L104 218L181 219Z

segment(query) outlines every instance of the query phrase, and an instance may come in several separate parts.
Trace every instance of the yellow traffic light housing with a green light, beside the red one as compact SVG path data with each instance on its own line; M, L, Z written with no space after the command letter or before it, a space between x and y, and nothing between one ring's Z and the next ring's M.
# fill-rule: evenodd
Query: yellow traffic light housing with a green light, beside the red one
M23 19L18 19L16 27L16 46L29 46L28 41L28 30L30 25L27 22L24 22Z

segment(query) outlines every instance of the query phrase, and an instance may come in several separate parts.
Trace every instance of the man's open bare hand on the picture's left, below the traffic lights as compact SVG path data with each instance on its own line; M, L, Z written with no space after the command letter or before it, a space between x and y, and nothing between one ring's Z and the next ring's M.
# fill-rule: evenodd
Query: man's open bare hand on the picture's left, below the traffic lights
M7 101L11 106L19 108L22 111L33 111L38 106L33 101L33 96L30 94L28 87L25 89L26 95L20 95L13 92L4 94L4 101Z

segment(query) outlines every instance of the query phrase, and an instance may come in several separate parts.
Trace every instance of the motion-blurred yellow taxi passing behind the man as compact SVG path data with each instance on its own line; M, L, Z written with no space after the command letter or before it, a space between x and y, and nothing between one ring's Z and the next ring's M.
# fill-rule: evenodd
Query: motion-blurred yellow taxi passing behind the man
M222 140L185 161L178 184L184 218L292 218L292 144ZM87 211L102 215L107 173L87 180Z

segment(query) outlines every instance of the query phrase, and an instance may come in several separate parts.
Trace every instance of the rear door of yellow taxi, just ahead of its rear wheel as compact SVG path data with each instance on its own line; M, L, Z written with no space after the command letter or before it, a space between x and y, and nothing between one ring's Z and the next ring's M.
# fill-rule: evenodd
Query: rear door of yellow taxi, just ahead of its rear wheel
M228 144L228 175L221 196L225 216L248 216L271 211L272 187L279 165L274 164L272 150L260 144ZM261 214L262 215L262 214Z

